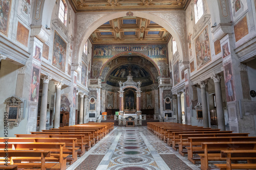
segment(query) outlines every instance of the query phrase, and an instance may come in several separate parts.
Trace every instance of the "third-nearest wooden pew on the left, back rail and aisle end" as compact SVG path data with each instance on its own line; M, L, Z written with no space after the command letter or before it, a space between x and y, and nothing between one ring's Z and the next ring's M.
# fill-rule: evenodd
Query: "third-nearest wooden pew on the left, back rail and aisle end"
M16 137L35 137L35 138L76 138L77 139L77 145L75 147L79 147L81 151L77 151L77 154L81 157L84 153L86 153L86 144L87 142L84 142L84 135L46 135L46 134L15 134Z

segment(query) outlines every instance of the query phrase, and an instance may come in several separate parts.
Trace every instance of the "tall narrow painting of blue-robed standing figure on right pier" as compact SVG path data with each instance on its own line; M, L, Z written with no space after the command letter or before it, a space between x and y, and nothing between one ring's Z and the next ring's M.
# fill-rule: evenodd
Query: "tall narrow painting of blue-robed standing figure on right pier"
M224 74L227 102L235 101L236 96L234 94L233 71L231 62L225 63Z

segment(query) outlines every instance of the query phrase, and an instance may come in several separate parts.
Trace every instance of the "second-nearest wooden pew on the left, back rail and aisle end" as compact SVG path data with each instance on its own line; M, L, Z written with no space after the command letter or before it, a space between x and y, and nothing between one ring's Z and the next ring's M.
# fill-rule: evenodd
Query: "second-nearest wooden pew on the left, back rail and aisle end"
M67 162L73 164L77 160L77 150L79 149L75 147L77 143L77 138L28 138L28 137L9 137L0 138L0 142L64 142L66 144L66 149L63 149L63 153L68 153L72 155L72 158L67 158ZM53 152L52 152L53 153Z

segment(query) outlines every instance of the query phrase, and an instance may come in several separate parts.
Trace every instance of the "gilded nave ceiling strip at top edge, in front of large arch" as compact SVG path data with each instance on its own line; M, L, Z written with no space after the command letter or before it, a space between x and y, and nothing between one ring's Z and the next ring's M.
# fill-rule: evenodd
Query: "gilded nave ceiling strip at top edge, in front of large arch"
M186 9L190 0L69 0L75 12Z

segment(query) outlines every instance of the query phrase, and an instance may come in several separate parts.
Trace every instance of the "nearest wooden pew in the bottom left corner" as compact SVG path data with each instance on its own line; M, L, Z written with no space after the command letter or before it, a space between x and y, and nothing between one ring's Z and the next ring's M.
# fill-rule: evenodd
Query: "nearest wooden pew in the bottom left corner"
M6 156L6 153L8 153L7 156ZM50 151L8 150L8 152L6 152L4 150L0 150L0 157L8 157L10 159L9 165L12 165L12 166L9 166L8 169L13 169L14 167L17 167L17 165L13 163L12 157L40 157L40 162L41 162L40 169L46 170L46 157L50 157L50 156L51 156ZM6 168L5 165L0 165L0 169L5 169L5 168ZM31 168L31 166L29 165L25 168Z

